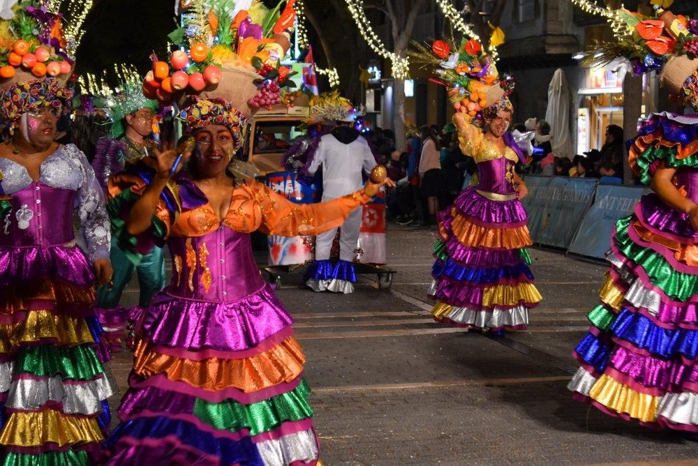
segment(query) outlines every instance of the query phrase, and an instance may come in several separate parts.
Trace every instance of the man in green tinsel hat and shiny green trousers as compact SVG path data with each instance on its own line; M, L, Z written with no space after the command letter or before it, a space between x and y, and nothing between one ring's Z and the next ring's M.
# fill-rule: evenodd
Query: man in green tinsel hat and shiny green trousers
M152 159L147 147L152 143L150 136L158 103L143 96L140 82L127 81L119 89L117 96L107 100L105 109L112 121L110 135L99 140L92 161L96 176L105 190L112 174L126 170L135 176L150 179L153 172L149 166ZM124 227L121 218L112 218L112 231ZM151 243L145 250L135 251L131 245L119 246L119 238L123 239L124 235L116 233L112 236L113 285L97 290L96 313L105 330L105 341L112 351L121 350L121 338L129 315L138 315L149 305L154 294L165 286L163 249ZM134 269L138 273L140 296L138 307L129 312L119 306L119 300Z

